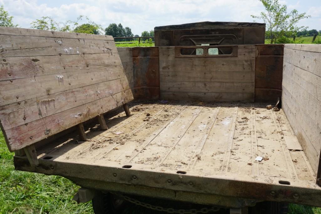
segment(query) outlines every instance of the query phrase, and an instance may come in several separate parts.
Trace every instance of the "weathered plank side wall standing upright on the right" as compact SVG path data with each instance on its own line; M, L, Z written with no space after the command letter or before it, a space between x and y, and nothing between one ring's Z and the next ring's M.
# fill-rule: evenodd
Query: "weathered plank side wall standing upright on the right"
M321 150L321 45L284 47L282 107L315 173Z

